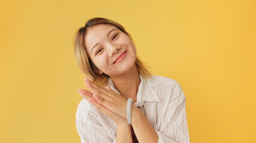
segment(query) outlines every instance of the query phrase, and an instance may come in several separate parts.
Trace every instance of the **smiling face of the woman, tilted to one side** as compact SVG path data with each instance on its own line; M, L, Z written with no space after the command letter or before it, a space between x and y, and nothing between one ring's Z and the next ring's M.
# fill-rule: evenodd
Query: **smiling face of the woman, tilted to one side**
M135 66L134 43L115 26L98 24L89 27L85 45L97 73L119 76Z

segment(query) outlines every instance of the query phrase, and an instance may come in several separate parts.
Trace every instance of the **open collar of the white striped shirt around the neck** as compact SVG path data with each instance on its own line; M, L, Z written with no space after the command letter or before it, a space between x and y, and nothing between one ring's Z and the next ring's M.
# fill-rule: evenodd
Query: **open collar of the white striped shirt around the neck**
M114 83L110 78L108 82L109 82L110 89L112 89L112 91L116 92L117 94L120 94L119 91L115 88ZM140 85L138 86L137 101L134 103L134 105L137 107L141 107L143 106L145 101L161 102L161 100L153 90L153 87L149 82L149 79L144 78L140 74Z

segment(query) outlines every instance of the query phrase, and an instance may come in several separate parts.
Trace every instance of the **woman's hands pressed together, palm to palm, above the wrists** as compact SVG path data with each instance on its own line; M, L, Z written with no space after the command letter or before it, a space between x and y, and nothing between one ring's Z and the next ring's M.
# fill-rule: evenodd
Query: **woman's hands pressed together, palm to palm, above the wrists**
M85 85L89 89L79 89L79 94L95 105L106 116L114 120L117 124L126 121L127 99L122 95L116 94L109 86L103 88L91 80L85 79Z

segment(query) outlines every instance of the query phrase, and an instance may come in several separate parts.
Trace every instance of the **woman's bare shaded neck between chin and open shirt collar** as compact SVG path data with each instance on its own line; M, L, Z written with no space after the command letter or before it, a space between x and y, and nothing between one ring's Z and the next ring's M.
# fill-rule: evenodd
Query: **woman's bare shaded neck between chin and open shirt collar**
M119 76L110 77L115 88L125 97L131 97L134 102L137 101L138 86L140 85L140 74L137 67L134 66L128 72Z

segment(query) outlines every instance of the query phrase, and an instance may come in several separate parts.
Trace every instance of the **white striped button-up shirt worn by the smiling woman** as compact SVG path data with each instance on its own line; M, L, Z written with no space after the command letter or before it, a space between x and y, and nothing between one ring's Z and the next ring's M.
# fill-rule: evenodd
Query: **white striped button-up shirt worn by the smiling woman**
M189 142L186 123L186 98L175 80L162 76L140 76L137 101L134 103L158 133L158 142ZM120 94L109 78L109 86ZM76 113L81 142L116 142L116 123L83 99Z

